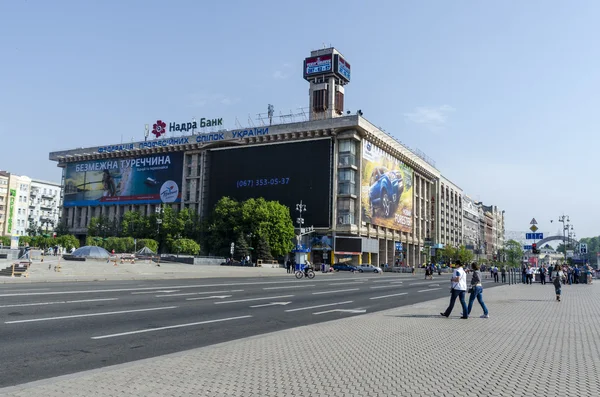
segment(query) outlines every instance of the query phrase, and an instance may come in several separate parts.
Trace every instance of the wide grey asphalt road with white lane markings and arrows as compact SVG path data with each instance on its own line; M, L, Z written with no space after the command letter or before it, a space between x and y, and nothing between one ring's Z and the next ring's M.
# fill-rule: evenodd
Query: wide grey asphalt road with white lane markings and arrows
M449 278L317 273L313 280L4 284L0 387L437 299L449 295Z

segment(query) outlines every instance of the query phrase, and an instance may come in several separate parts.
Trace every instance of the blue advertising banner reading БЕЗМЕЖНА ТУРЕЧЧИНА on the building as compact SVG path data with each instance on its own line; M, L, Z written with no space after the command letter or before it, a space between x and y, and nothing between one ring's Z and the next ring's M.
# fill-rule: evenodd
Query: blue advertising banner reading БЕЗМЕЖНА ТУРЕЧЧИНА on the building
M69 163L64 206L181 201L183 153Z

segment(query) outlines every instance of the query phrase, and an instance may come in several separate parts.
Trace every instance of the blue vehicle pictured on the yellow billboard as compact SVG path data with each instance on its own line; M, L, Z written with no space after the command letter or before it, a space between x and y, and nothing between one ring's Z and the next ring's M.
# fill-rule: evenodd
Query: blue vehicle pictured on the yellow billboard
M369 188L369 206L371 216L381 210L382 216L391 217L400 202L404 191L404 183L400 171L389 171L385 167L376 167L371 173Z

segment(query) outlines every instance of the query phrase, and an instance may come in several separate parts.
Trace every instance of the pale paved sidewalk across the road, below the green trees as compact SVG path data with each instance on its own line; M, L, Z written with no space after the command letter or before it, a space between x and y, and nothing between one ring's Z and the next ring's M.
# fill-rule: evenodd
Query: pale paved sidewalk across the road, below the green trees
M4 269L14 261L0 261ZM39 283L64 281L102 281L102 280L174 280L185 278L209 277L269 277L284 276L284 268L238 267L188 265L183 263L161 263L157 266L149 260L141 260L134 264L117 262L106 263L106 260L87 260L85 262L60 261L60 272L54 271L58 258L47 256L44 262L34 260L29 268L28 277L0 277L3 283ZM50 265L50 269L48 269Z

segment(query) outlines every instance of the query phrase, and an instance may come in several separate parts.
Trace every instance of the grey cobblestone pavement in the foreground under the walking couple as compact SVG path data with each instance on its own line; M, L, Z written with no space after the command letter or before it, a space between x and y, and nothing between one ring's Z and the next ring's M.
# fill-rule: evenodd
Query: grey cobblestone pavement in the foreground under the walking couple
M600 283L484 291L0 389L7 396L598 396ZM340 314L343 316L343 314Z

